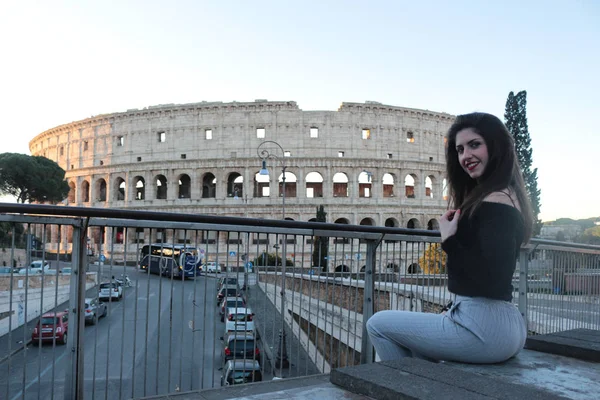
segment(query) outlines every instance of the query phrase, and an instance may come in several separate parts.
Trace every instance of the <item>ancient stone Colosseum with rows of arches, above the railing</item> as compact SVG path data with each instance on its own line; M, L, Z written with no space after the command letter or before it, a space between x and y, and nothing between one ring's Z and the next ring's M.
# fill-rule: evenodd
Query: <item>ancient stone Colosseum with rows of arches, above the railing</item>
M297 221L323 205L328 222L437 229L453 119L372 101L166 104L64 124L29 147L66 171L67 205Z

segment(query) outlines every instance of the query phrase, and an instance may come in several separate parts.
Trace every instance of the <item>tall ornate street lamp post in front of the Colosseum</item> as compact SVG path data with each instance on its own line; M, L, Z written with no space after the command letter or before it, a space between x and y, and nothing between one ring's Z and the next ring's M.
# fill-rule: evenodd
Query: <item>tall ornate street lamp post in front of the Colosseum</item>
M279 157L277 154L275 154L273 152L273 150L278 151L281 150L281 157ZM282 185L281 185L281 189L282 189L282 205L281 205L281 211L282 211L282 219L285 219L285 170L287 168L286 164L285 164L285 151L283 150L283 147L281 147L281 145L275 141L272 140L266 140L264 142L262 142L261 144L258 145L258 148L256 149L257 153L258 153L258 157L260 157L261 159L261 169L259 174L260 175L269 175L269 170L267 169L267 160L268 159L275 159L275 160L279 160L281 162L281 181L282 181ZM270 182L270 179L269 179ZM282 270L281 270L281 329L279 330L279 346L277 349L277 357L275 359L275 368L288 368L290 363L288 361L288 356L287 356L287 343L286 343L286 334L285 334L285 274L286 274L286 266L287 266L287 258L286 258L286 243L287 242L287 238L285 235L283 235L283 248L282 248ZM277 243L275 244L275 264L277 264L277 248L278 245Z

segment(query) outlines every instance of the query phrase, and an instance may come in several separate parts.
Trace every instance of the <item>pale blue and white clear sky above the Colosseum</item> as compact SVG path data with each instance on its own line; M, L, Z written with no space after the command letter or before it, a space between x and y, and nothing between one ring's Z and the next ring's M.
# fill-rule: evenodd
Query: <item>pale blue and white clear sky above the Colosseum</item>
M379 101L503 118L527 90L543 220L600 216L600 2L15 1L0 5L2 152L165 103Z

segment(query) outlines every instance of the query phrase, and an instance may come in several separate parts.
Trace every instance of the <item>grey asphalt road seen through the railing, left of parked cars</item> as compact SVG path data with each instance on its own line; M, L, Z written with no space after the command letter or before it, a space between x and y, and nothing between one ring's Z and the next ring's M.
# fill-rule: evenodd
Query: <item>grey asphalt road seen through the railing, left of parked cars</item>
M119 276L106 266L101 275ZM126 269L133 286L121 301L108 302L108 316L85 328L86 399L121 399L220 386L220 337L216 280L170 280ZM88 296L95 294L94 289ZM57 307L63 309L61 305ZM14 332L23 340L30 337ZM63 398L67 346L29 345L0 364L0 398ZM264 377L269 379L268 376Z

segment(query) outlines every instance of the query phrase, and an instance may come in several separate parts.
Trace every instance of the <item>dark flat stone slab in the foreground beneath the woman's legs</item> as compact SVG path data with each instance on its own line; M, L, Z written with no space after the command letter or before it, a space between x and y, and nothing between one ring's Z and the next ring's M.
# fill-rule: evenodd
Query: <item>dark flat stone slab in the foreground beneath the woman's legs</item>
M331 382L353 393L396 399L564 399L545 390L462 371L443 363L403 358L335 369Z

